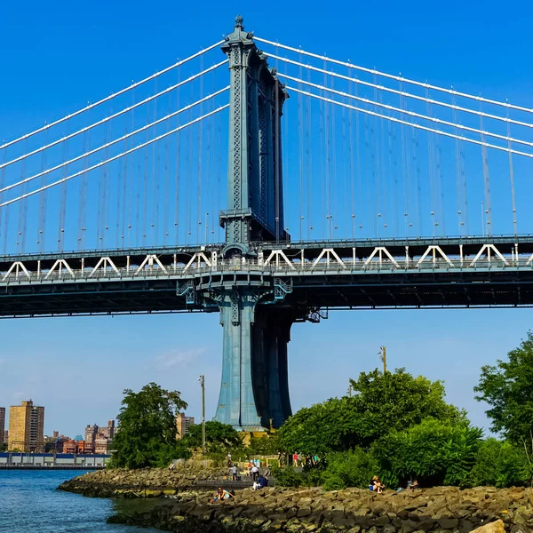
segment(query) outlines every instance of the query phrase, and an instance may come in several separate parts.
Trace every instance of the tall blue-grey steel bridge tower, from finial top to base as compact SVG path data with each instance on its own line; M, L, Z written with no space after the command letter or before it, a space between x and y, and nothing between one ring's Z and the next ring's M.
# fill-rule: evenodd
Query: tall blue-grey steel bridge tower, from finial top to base
M275 70L235 19L222 51L229 59L229 156L224 259L258 260L254 243L288 240L283 225L281 117L288 97ZM238 271L237 271L238 272ZM211 278L224 328L216 419L243 431L282 425L291 414L287 371L290 327L298 313L280 301L284 283L264 273ZM276 299L277 295L277 299Z

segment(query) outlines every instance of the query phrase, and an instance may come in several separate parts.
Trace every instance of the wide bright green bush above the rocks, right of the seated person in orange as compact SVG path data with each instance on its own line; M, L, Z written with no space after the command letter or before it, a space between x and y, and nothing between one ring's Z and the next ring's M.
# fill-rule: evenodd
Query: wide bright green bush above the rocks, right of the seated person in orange
M393 430L373 446L382 481L389 487L418 479L421 485L459 485L470 473L481 429L426 418L407 430Z

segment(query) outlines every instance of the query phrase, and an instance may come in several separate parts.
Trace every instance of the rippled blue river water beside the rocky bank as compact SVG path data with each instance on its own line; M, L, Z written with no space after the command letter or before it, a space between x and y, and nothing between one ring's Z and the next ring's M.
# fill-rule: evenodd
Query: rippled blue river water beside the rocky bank
M84 473L65 470L0 469L2 533L148 533L153 529L107 524L115 511L143 506L139 500L83 497L56 490L61 482ZM150 504L151 505L151 504Z

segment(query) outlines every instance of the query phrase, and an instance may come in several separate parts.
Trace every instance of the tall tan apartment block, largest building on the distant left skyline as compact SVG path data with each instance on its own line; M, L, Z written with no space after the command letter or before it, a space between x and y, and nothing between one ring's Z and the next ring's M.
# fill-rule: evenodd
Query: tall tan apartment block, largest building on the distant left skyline
M44 451L44 407L31 400L9 408L9 441L7 449L24 452Z

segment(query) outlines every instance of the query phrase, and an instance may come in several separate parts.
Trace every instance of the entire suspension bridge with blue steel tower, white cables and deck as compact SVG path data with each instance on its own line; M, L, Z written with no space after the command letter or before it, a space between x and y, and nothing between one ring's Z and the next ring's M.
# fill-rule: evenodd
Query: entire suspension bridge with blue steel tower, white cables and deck
M219 313L216 419L278 427L295 322L533 305L532 113L237 17L222 41L2 141L0 315Z

